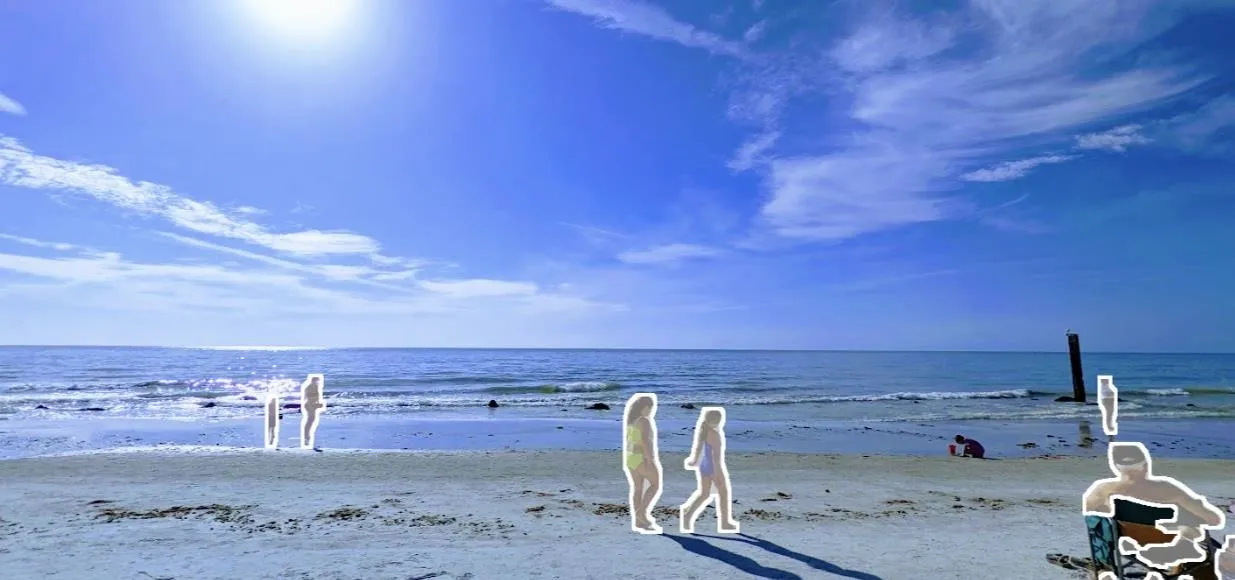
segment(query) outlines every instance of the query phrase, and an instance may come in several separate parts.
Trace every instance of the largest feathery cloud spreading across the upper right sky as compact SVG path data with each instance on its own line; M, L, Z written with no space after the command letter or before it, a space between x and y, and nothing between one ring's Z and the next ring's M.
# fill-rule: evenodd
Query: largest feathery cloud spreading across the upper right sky
M974 0L929 21L874 10L829 53L840 70L831 90L847 95L844 121L856 128L826 139L826 153L772 162L763 216L783 236L860 236L965 215L942 197L958 180L1015 179L1067 160L974 167L1198 86L1203 77L1170 65L1079 74L1095 51L1119 54L1161 30L1146 26L1150 9L1145 0Z

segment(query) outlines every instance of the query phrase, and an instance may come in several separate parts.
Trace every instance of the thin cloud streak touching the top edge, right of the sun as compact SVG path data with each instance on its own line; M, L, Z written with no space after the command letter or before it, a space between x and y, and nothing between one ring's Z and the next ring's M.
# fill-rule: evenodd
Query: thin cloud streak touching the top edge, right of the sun
M715 54L742 56L745 47L720 35L674 19L664 9L640 0L545 0L548 5L587 16L605 28L658 41L703 48Z

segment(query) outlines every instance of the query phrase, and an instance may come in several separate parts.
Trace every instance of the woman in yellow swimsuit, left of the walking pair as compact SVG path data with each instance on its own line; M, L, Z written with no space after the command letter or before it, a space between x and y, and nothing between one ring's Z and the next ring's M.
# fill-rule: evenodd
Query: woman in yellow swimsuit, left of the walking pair
M630 527L638 533L662 533L652 520L661 499L661 455L656 448L656 394L636 392L622 416L622 469L630 484Z

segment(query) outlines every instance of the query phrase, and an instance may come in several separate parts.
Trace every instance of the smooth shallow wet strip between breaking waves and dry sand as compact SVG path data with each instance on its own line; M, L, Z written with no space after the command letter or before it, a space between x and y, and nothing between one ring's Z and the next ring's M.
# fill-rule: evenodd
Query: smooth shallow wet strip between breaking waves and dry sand
M296 447L300 416L285 413L280 445ZM1097 422L767 422L731 420L735 452L845 453L876 455L946 454L951 437L981 441L993 458L1040 455L1100 457L1108 437ZM662 450L684 452L693 420L661 420ZM177 421L91 417L78 421L0 421L0 459L132 445L261 447L262 420ZM1121 441L1140 441L1156 457L1235 458L1235 420L1141 420L1120 425ZM415 450L600 450L616 449L620 413L597 418L506 418L479 412L471 420L350 417L324 415L317 432L322 448ZM1091 438L1087 439L1084 436Z

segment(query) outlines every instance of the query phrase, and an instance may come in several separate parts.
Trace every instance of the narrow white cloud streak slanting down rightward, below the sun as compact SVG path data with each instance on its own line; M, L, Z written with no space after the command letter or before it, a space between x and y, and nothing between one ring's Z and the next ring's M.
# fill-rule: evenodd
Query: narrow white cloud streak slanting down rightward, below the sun
M4 136L0 136L0 183L85 195L122 210L162 217L193 232L238 239L288 254L364 255L380 249L373 238L351 232L305 230L275 233L242 212L228 213L209 201L183 196L165 185L132 181L106 165L40 155L17 139Z

